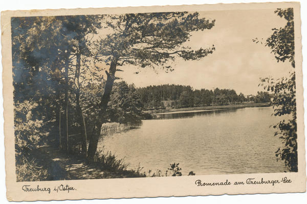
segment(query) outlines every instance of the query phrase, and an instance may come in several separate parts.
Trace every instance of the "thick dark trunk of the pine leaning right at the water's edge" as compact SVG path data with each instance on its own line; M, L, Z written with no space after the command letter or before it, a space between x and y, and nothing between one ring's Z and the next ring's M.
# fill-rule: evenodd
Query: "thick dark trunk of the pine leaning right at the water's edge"
M99 136L101 132L101 125L107 122L107 119L104 116L105 116L105 111L107 109L108 101L111 96L113 84L116 79L115 77L116 65L117 65L117 60L113 60L109 68L109 73L105 71L107 74L107 79L106 79L106 83L104 86L103 95L101 96L101 102L100 102L100 107L99 107L100 110L96 117L96 121L93 127L93 132L92 132L92 136L91 136L91 140L89 144L89 149L87 150L87 159L89 160L93 160L96 154L98 140L99 140Z

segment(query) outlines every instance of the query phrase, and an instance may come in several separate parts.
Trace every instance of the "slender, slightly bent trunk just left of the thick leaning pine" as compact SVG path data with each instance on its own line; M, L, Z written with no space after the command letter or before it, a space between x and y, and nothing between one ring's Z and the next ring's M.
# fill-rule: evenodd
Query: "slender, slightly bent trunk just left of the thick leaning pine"
M77 88L76 91L76 105L77 105L77 113L78 113L78 123L81 129L81 148L82 148L82 155L86 157L87 153L87 136L86 136L86 127L85 121L82 113L82 109L80 106L80 87L79 87L79 78L80 78L80 68L81 68L81 54L77 54L77 63L76 63L76 73L75 73L75 85Z

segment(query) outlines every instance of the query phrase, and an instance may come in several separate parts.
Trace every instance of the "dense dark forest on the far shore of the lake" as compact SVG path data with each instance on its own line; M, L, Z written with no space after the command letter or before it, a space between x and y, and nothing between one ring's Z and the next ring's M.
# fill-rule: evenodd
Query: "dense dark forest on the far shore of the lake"
M188 108L226 106L241 103L268 103L271 95L260 91L256 96L237 94L233 89L193 90L190 86L160 85L138 88L146 110L165 108Z

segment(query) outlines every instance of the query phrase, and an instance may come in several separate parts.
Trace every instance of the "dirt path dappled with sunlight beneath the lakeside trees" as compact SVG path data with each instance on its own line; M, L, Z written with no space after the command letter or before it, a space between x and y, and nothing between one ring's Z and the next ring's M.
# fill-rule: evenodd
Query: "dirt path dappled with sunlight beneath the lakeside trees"
M123 174L104 171L95 163L87 162L77 156L68 155L52 146L40 146L39 156L43 165L48 166L51 180L80 180L80 179L111 179L127 177Z

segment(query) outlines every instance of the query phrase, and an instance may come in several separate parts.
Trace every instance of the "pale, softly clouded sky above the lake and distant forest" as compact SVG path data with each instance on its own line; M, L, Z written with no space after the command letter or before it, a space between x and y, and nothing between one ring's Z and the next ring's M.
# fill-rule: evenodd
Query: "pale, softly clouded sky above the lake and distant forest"
M264 89L259 78L277 79L288 76L289 62L279 62L265 44L252 39L266 39L272 28L284 27L286 20L277 16L276 9L199 12L200 17L215 19L211 30L193 32L187 43L194 49L215 47L213 54L199 61L178 59L171 65L174 71L153 71L151 68L122 67L117 72L127 83L137 87L161 84L189 85L194 89L234 89L237 94L256 95ZM135 74L134 72L139 72ZM157 73L158 72L158 73Z

